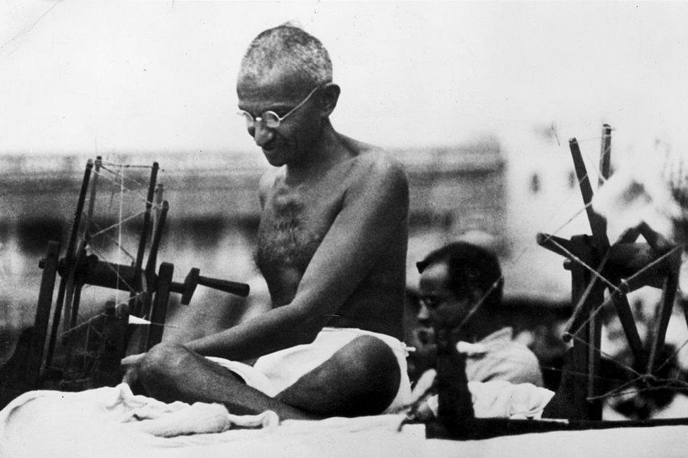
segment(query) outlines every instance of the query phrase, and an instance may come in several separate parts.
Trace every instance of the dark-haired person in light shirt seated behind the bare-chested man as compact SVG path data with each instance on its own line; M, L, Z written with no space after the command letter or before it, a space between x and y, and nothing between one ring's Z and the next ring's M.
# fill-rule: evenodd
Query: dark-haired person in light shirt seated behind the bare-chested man
M501 307L503 278L497 257L469 242L454 242L417 263L419 341L436 354L439 336L465 354L472 411L465 416L525 418L539 416L553 392L541 388L538 359L512 340ZM433 366L435 364L432 364ZM426 370L412 392L410 418L438 416L436 369ZM461 383L460 381L458 383Z

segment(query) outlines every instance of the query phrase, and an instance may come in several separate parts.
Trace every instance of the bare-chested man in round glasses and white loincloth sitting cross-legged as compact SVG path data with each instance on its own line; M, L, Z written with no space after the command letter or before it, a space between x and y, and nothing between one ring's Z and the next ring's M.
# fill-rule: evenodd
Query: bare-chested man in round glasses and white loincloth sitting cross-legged
M250 44L240 115L273 166L259 182L256 264L272 309L123 360L160 400L221 402L282 419L381 414L410 397L403 335L408 185L385 151L334 130L340 88L298 27ZM253 366L238 361L258 358Z

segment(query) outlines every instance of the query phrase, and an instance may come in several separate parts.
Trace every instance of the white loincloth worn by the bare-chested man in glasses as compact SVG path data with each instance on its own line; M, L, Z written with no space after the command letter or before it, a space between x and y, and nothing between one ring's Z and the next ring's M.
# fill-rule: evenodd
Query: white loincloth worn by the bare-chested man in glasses
M403 342L390 335L357 328L323 328L313 342L266 354L264 357L260 357L253 366L217 357L207 357L207 359L236 373L244 379L247 385L274 397L293 385L306 373L330 359L338 349L362 335L379 338L394 352L399 364L401 379L397 395L383 413L391 414L400 411L410 402L411 398L411 383L406 365L408 351Z

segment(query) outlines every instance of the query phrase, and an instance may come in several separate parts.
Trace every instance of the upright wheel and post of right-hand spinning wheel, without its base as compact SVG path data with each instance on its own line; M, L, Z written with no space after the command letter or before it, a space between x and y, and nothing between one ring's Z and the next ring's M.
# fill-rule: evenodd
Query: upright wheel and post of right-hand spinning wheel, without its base
M611 128L603 126L598 185L610 176ZM572 376L570 405L565 418L598 420L602 416L599 380L601 318L598 311L613 304L634 357L632 368L640 383L651 383L658 367L658 352L664 345L669 318L675 302L680 268L680 247L672 245L646 224L627 230L613 245L607 223L591 207L594 195L577 140L570 140L576 175L585 204L592 235L575 235L570 240L539 233L542 247L567 258L564 268L571 272L572 317L566 326L565 340L574 340L571 350ZM643 235L645 242L637 242ZM644 344L637 330L627 293L640 287L663 290L654 327ZM606 296L605 296L606 295ZM688 319L688 316L687 316ZM660 364L661 365L661 364Z

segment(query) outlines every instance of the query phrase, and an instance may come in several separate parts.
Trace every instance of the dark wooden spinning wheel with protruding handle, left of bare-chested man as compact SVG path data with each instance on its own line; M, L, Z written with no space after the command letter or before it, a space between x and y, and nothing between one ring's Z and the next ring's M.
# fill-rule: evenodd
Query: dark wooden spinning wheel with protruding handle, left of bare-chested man
M59 388L82 390L119 382L119 361L125 354L144 352L160 342L168 300L172 292L189 304L197 285L247 296L248 285L207 278L192 268L184 283L173 281L173 264L162 262L156 271L157 256L169 204L163 200L163 186L156 185L158 163L150 167L145 209L126 218L140 223L135 256L129 265L104 261L93 253L92 242L123 221L101 228L94 221L99 178L114 173L98 157L89 160L82 179L74 221L63 256L60 242L48 243L35 323L19 374L20 388ZM123 174L121 187L123 187ZM121 210L120 210L121 213ZM122 214L120 214L122 217ZM120 240L113 240L125 252ZM146 255L147 252L147 256ZM144 264L144 259L146 262ZM57 276L60 276L53 304ZM78 323L82 290L86 286L109 288L128 293L120 302L108 302L104 310ZM141 326L141 325L145 326ZM58 358L58 349L61 349ZM18 394L16 392L15 394Z

